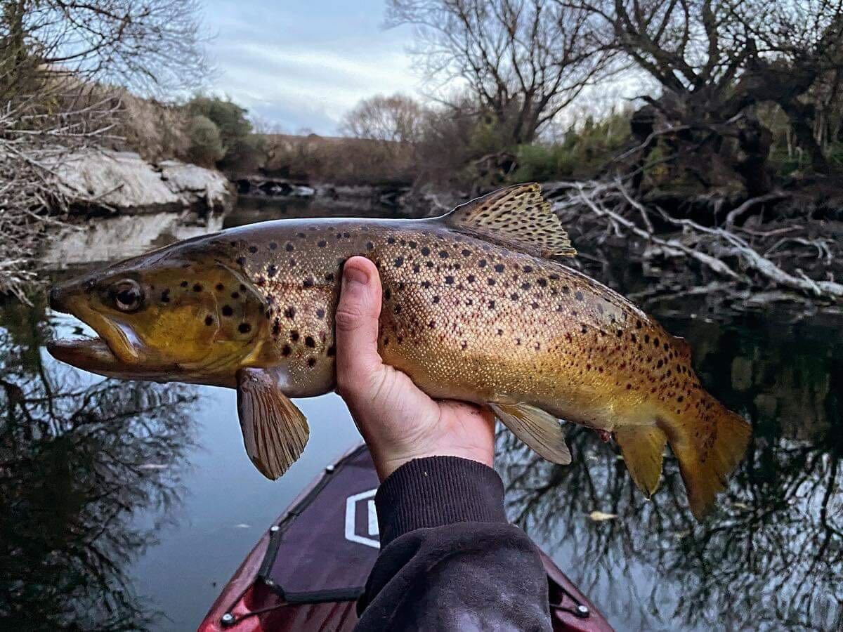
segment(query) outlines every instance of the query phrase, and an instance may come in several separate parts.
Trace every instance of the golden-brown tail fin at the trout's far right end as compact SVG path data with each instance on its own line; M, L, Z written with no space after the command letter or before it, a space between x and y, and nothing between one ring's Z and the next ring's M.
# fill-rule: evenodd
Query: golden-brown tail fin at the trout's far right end
M693 409L691 409L693 410ZM698 415L659 420L668 435L688 491L690 511L700 520L711 511L715 496L744 456L752 428L740 415L704 394Z

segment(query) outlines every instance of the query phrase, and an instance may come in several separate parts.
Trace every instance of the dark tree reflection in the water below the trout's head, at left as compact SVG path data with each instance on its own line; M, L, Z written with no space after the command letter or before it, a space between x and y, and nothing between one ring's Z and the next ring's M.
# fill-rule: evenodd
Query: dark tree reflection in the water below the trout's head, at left
M126 569L180 497L196 390L57 365L43 322L0 310L0 629L143 629Z

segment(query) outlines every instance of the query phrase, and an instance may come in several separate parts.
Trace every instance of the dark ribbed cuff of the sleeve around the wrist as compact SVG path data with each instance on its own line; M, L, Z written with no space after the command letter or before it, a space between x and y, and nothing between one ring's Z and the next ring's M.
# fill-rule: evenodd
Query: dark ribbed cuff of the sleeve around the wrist
M416 458L389 474L374 497L380 545L415 529L454 522L508 522L494 469L459 457Z

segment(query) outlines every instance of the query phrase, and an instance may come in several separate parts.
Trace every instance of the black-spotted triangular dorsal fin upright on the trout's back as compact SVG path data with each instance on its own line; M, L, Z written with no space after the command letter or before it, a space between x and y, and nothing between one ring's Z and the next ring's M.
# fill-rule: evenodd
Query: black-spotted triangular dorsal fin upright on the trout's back
M540 257L572 257L577 251L537 182L507 186L457 206L443 221L469 233Z

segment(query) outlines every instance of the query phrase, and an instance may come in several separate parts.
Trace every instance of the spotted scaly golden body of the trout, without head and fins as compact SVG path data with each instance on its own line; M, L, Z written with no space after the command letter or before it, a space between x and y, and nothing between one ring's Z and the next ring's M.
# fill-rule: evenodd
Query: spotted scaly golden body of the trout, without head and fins
M642 416L630 410L650 395L664 408L688 406L699 388L667 332L565 265L413 224L245 231L229 247L266 297L273 344L262 362L286 357L298 396L333 388L341 265L357 254L381 276L384 362L434 397L525 401L612 431L615 417Z

